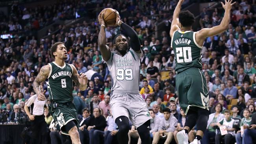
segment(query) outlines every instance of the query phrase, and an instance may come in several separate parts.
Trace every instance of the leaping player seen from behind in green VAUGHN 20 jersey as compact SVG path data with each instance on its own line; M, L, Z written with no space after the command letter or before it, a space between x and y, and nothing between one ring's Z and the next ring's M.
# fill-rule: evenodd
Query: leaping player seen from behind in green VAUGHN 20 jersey
M194 15L189 11L180 12L184 0L180 0L173 13L170 36L175 55L177 73L176 87L180 106L187 116L184 130L177 133L179 144L188 144L189 131L197 124L197 135L191 144L200 144L209 118L209 96L204 74L202 73L201 51L206 37L218 35L227 30L232 0L221 2L225 9L219 26L193 32Z

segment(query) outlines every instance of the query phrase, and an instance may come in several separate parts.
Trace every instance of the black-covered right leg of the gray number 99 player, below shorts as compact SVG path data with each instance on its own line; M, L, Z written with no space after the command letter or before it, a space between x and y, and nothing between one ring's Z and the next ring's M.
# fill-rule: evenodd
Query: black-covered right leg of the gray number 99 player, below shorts
M141 138L141 144L151 144L150 138L150 120L145 122L143 125L137 127L137 131L139 133L139 137Z

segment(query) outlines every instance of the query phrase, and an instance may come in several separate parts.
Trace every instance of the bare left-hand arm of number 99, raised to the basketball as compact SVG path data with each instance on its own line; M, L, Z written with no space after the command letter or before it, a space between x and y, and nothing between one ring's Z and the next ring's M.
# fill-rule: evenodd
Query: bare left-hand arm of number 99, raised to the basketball
M100 33L98 35L98 45L100 47L100 53L104 61L108 61L111 56L111 51L109 47L106 45L106 31L105 31L105 22L102 18L102 14L98 15L98 21L100 24Z

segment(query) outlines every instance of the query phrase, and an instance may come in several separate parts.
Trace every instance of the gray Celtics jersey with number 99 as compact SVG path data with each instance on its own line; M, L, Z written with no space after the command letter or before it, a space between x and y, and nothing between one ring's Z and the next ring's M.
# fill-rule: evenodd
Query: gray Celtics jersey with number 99
M111 75L111 90L139 91L141 54L136 53L132 48L123 57L111 52L110 59L106 61Z

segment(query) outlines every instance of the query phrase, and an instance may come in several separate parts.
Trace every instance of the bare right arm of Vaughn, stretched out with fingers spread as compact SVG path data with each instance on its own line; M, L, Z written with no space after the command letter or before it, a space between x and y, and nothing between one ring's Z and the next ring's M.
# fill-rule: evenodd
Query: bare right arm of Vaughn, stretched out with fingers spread
M232 1L233 0L225 0L225 4L221 2L223 8L225 9L225 13L220 25L212 28L203 28L202 30L196 32L196 41L200 46L203 45L206 37L219 35L228 29L228 24L230 22L230 10L232 9L232 6L236 4L236 2L232 3Z

